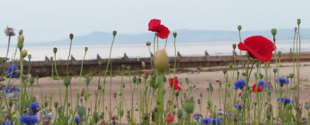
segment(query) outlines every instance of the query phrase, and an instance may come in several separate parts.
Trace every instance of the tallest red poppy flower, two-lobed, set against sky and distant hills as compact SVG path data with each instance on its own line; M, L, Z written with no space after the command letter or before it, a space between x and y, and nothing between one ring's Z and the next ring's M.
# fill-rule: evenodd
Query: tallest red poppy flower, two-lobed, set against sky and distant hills
M148 23L148 30L152 32L157 32L159 38L165 39L168 37L170 31L169 29L160 24L161 20L153 19Z

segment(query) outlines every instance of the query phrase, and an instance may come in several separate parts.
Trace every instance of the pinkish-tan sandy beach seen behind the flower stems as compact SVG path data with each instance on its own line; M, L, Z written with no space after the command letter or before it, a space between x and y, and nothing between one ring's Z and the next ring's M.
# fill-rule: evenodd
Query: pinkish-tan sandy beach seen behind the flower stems
M309 70L310 70L310 63L300 63L300 102L304 103L306 101L308 101L309 96L310 96L310 91L309 91L309 80L310 80L310 74L309 74ZM275 67L275 64L271 64L271 71L272 69ZM293 64L292 63L283 63L281 64L281 69L279 72L280 77L286 77L288 76L290 73L293 73ZM209 87L209 83L213 83L213 87L214 87L214 95L213 95L213 104L217 105L217 107L219 106L219 84L215 82L215 78L219 78L223 84L222 86L225 86L225 78L223 75L223 72L220 71L213 71L213 72L199 72L201 71L201 69L220 69L220 68L224 68L224 67L210 67L210 68L199 68L199 70L197 68L191 68L189 69L190 72L186 72L186 73L180 73L180 74L176 74L176 76L178 77L178 79L185 79L185 78L189 78L189 85L193 86L194 84L196 85L196 87L193 90L193 97L194 100L199 97L199 94L202 93L202 115L205 116L206 115L206 106L207 106L207 100L209 100L208 97L208 93L206 88ZM254 75L253 73L256 72L257 69L253 69L252 74L251 74L251 81L249 83L249 86L252 87L254 84ZM240 71L240 69L239 69ZM262 68L261 71L263 72L264 69ZM242 69L241 69L242 72ZM269 73L269 71L268 71ZM264 74L264 73L263 73ZM171 75L173 76L173 74ZM133 76L130 76L131 78ZM137 76L137 77L141 77L141 76ZM269 77L269 76L268 76ZM167 75L167 78L169 78L169 76ZM97 86L98 86L98 80L99 77L95 76L95 77L91 77L91 82L89 84L89 91L91 92L91 97L90 97L90 101L92 101L92 105L95 103L95 94L94 92L97 91ZM102 85L102 81L103 81L103 77L100 78L100 85ZM109 98L110 98L110 77L106 78L106 89L105 89L105 100L104 100L104 106L108 106L109 105ZM112 107L115 107L115 100L113 98L113 93L118 93L120 91L120 86L121 86L121 79L122 76L114 76L112 77L112 86L111 86L111 93L112 93ZM228 80L231 79L231 74L230 71L228 71ZM236 77L235 77L236 79ZM274 84L273 79L274 79L274 74L272 73L271 75L271 83ZM85 78L81 78L81 83L85 80ZM73 101L73 105L75 105L75 101L76 101L76 94L77 94L77 86L78 86L78 82L79 78L78 77L74 77L71 80L71 87L72 87L72 101ZM181 86L182 88L182 93L188 93L188 86L187 83L185 82L185 80L183 80L183 84ZM124 91L124 98L126 100L127 103L127 107L128 109L130 109L131 105L131 92L130 92L130 81L129 81L129 76L124 76L123 78L123 83L126 84L125 87L125 91ZM15 81L13 83L13 85L19 86L19 80ZM291 81L290 81L291 84ZM290 85L289 84L289 85ZM52 91L54 92L53 95L53 99L52 102L60 102L59 99L59 90L58 90L58 82L57 80L53 80L52 83L52 78L51 77L45 77L45 78L39 78L39 85L42 87L42 94L43 94L43 99L44 96L49 96L49 93ZM233 83L232 83L233 85ZM293 87L293 85L292 85ZM86 88L86 85L83 85L83 88ZM169 99L169 83L168 81L165 83L165 88L166 88L166 95L165 95L165 102ZM223 87L224 88L224 87ZM62 97L62 101L64 101L64 96L65 96L65 86L63 85L62 80L60 80L60 91L61 91L61 97ZM233 92L234 93L234 92ZM37 100L38 102L42 102L41 101L41 90L38 87L38 85L36 83L34 83L34 87L33 87L33 95L39 96L39 99ZM292 94L291 94L292 95ZM82 97L83 98L83 97ZM275 106L276 105L276 93L272 92L272 104ZM292 97L290 97L292 98ZM70 102L70 91L69 91L69 102ZM83 100L85 101L85 100ZM134 106L136 105L136 101L137 101L137 96L134 96ZM117 96L117 102L119 102L119 96ZM84 102L83 102L84 103ZM223 102L221 102L223 103ZM89 103L88 106L90 106L91 104ZM87 106L87 107L88 107ZM222 105L223 106L223 105ZM221 106L221 107L222 107ZM53 108L54 109L54 108ZM122 117L122 121L127 122L126 118L125 118L125 114L126 114L126 107L124 107L124 116ZM198 108L198 104L196 104L196 108L194 112L198 112L199 108ZM139 112L135 111L135 116L138 116ZM115 110L113 112L113 115L117 115L117 111Z

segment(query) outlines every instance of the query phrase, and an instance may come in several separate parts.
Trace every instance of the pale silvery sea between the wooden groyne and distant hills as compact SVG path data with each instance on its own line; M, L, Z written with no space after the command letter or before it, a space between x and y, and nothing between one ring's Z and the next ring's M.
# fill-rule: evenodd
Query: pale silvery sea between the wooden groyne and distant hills
M38 43L39 44L39 43ZM82 60L85 54L85 47L88 47L86 52L85 60L93 60L97 58L97 54L101 58L109 58L111 45L87 45L87 46L74 46L72 43L70 55L76 60ZM232 55L232 44L238 44L238 42L188 42L188 43L167 43L166 51L168 56L175 56L175 49L179 51L182 56L204 56L205 51L208 52L210 56L221 56L221 55ZM69 43L68 46L57 47L58 51L56 53L56 60L67 60L69 56ZM276 42L277 51L290 52L292 48L293 51L293 40L277 40ZM299 45L298 45L299 46ZM124 53L129 58L144 58L150 57L150 51L154 53L153 43L151 46L146 46L145 44L132 44L132 45L113 45L111 58L122 58ZM54 47L24 47L28 51L28 54L32 55L32 61L43 61L45 56L50 58L54 56L53 53ZM164 49L165 43L159 43L158 49ZM12 60L15 56L15 59L19 59L19 51L15 55L16 47L10 47L8 58ZM18 50L18 49L17 49ZM295 41L295 50L296 50L296 41ZM157 44L155 45L155 51L157 51ZM301 51L310 51L310 40L301 40ZM236 48L237 54L240 54L238 47ZM6 47L0 48L0 57L5 57L7 53ZM243 54L245 52L242 52ZM28 58L26 58L28 60Z

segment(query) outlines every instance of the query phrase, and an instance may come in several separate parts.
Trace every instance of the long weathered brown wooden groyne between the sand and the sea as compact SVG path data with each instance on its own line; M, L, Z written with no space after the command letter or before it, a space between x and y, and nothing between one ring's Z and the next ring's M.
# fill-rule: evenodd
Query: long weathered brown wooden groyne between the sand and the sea
M234 57L231 56L209 56L209 54L205 51L204 56L182 56L179 52L177 54L176 59L176 68L203 68L203 67L212 67L212 66L224 66L224 57L228 58L229 62L233 62ZM235 56L237 65L241 65L241 56ZM243 60L246 60L245 56L242 56ZM27 58L25 58L27 59ZM174 65L174 57L169 57L171 68ZM95 60L85 60L83 64L83 72L82 74L88 73L99 73L99 65L98 61L103 61L102 69L106 69L108 59L102 59L99 55L97 55L97 59ZM151 61L150 58L129 58L126 53L124 57L120 59L111 59L112 69L113 70L122 70L122 65L131 66L131 70L141 70L141 62L144 61L146 63L146 69L151 69ZM153 56L152 56L153 61ZM270 61L271 63L275 63L274 57ZM293 54L292 53L282 53L281 62L293 62ZM300 55L300 62L310 62L310 53L304 52ZM33 76L38 75L39 77L51 76L51 65L54 65L54 61L48 57L45 57L44 61L31 61L31 71L30 74ZM9 67L12 62L8 62L6 67ZM19 62L14 62L14 64L20 68ZM4 63L1 64L3 67ZM66 75L66 65L67 60L58 60L56 61L57 71L60 76ZM82 60L75 60L71 55L71 59L69 60L69 71L71 75L80 74L82 65ZM28 72L29 61L24 60L24 73ZM2 68L0 68L2 70ZM1 71L2 72L2 71ZM55 70L54 70L55 74Z

